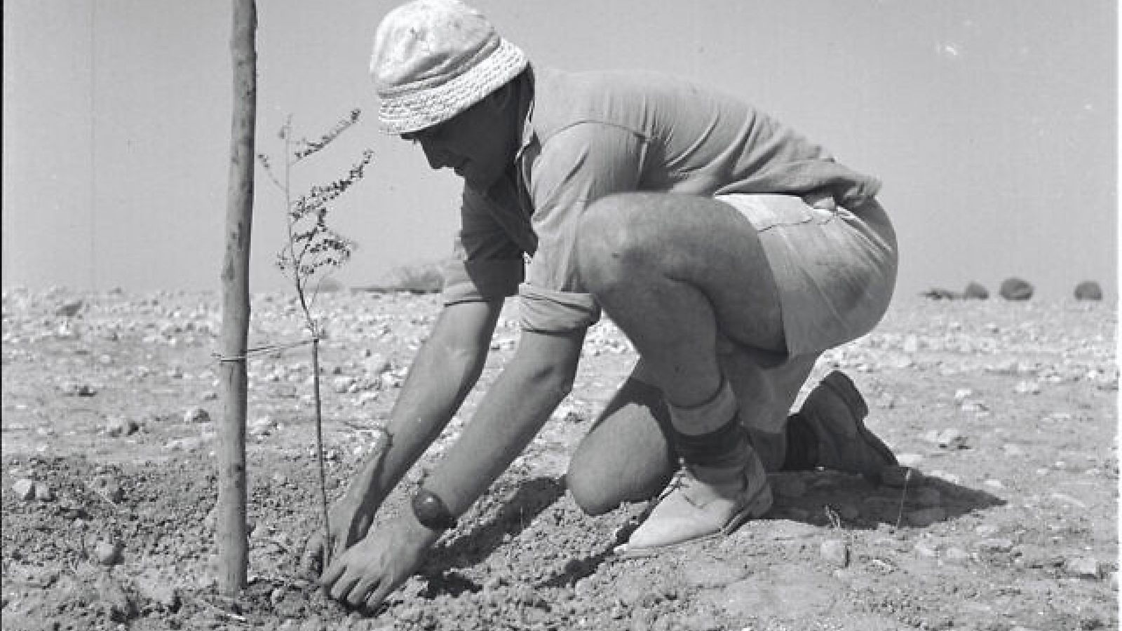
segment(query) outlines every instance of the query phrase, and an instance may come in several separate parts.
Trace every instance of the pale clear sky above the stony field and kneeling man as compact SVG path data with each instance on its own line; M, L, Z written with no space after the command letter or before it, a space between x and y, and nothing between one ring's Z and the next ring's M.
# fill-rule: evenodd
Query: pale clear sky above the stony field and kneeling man
M396 2L258 2L258 152L291 113L315 158L367 179L330 221L369 282L449 254L459 184L377 131L371 36ZM480 0L540 65L647 68L737 94L884 182L898 292L1115 296L1118 15L1113 0ZM3 2L4 286L220 287L232 103L229 2ZM297 179L301 173L296 173ZM283 289L283 199L259 176L254 291Z

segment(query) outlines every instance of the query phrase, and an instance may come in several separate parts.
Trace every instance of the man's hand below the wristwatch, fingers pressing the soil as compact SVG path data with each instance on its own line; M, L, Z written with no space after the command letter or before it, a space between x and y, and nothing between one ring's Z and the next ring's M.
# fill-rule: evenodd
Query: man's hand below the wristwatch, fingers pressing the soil
M440 532L421 525L406 512L333 557L320 585L337 601L374 610L421 567L439 538Z

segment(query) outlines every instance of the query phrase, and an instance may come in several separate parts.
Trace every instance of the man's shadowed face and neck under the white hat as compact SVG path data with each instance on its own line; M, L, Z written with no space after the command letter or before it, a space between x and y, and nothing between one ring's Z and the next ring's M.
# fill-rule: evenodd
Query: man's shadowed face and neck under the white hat
M487 190L514 161L508 115L491 98L451 119L402 138L419 143L432 168L449 167L478 190Z

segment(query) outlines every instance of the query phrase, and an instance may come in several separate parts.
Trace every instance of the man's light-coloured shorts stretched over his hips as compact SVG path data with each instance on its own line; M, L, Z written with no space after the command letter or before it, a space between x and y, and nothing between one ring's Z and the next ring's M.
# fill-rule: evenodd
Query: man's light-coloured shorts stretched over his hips
M896 281L896 247L876 200L855 212L801 198L736 193L715 199L755 226L780 292L790 356L818 354L873 329Z

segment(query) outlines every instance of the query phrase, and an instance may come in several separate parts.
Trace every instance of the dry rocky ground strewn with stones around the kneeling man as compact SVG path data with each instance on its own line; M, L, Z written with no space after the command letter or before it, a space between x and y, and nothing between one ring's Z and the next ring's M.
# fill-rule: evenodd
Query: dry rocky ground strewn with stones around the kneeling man
M337 293L318 307L338 494L439 301ZM765 519L644 559L611 555L643 506L585 516L561 481L634 362L603 322L571 400L374 618L296 567L320 523L306 346L248 365L250 584L231 600L213 569L217 296L8 289L2 316L3 629L1118 629L1112 303L902 296L813 377L846 371L910 469L879 485L775 475ZM284 295L255 296L252 322L250 346L302 338ZM484 383L516 339L504 318ZM397 494L384 513L402 506Z

